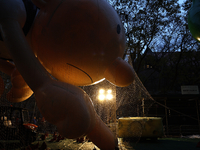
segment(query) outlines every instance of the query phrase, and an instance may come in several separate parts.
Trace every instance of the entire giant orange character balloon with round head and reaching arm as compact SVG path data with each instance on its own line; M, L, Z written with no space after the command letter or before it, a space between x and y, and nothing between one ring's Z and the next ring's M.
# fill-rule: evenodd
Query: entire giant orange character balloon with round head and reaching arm
M133 82L133 69L122 59L120 18L104 0L32 1L40 9L26 35L29 1L0 0L0 69L13 85L8 100L21 102L34 92L41 114L60 134L87 135L100 149L115 149L117 137L77 86Z

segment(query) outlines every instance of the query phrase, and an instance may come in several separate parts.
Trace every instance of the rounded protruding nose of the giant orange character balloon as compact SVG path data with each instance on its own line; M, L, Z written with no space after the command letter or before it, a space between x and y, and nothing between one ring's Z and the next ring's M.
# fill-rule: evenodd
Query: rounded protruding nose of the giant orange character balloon
M133 68L120 57L116 58L106 69L104 77L111 83L120 87L130 85L135 79Z

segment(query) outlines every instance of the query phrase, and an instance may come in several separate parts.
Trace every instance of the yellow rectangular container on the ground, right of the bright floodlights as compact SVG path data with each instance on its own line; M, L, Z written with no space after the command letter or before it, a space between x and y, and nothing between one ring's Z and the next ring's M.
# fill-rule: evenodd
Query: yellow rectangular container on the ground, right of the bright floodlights
M118 137L155 138L164 135L160 117L126 117L118 120Z

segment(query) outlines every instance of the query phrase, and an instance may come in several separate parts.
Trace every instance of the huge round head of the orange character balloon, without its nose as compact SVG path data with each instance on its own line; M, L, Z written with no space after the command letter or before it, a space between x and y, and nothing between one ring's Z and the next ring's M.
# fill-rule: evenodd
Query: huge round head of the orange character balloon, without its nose
M118 14L104 0L53 0L36 17L32 44L55 78L90 85L122 57L125 35Z

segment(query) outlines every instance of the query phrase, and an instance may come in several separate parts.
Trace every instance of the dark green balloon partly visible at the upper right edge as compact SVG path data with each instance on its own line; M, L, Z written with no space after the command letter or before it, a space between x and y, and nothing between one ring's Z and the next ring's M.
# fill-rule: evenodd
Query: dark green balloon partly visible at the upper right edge
M200 42L200 1L193 0L188 13L188 26L193 37Z

